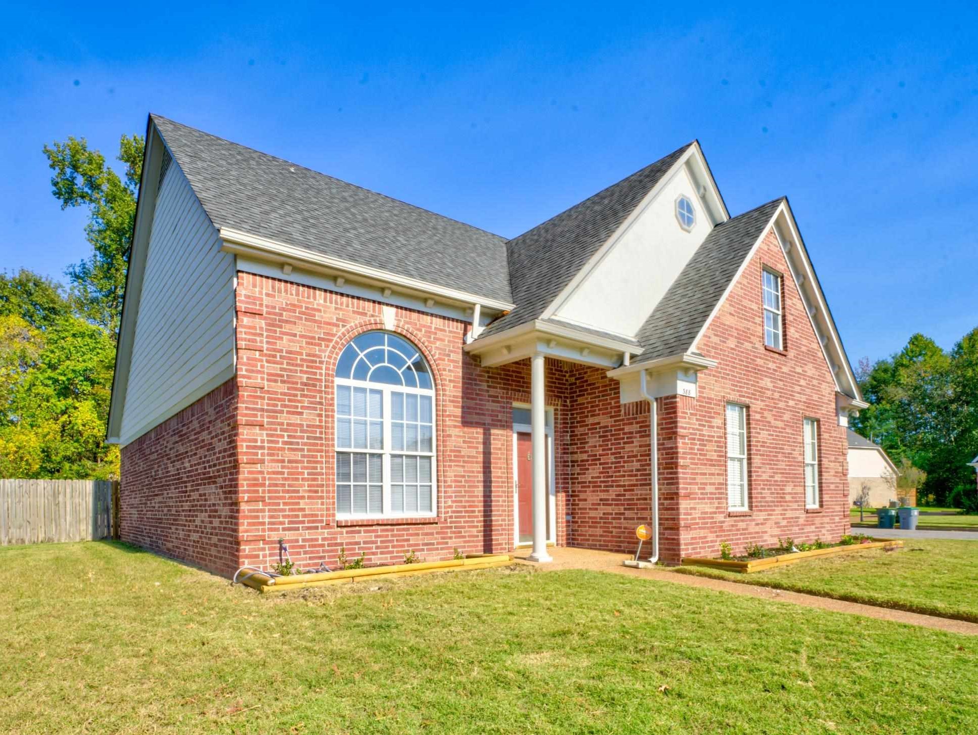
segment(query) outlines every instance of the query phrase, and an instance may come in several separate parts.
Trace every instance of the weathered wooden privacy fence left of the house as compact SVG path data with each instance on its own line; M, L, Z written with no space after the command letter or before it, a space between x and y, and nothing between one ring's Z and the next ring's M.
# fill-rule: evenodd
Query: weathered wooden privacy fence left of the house
M117 537L116 480L0 480L0 545Z

